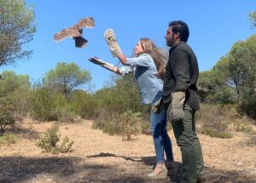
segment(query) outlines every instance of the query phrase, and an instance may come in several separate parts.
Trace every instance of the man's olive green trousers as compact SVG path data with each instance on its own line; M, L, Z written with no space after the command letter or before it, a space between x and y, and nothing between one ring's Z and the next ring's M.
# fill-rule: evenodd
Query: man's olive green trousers
M182 121L172 122L172 129L182 154L182 183L196 183L204 177L204 161L201 144L195 133L195 110L184 106Z

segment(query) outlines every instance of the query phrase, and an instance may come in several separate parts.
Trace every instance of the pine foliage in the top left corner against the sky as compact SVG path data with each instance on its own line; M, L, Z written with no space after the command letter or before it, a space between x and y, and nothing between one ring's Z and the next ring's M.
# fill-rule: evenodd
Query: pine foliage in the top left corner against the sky
M0 0L0 66L30 58L26 49L36 32L34 7L25 0Z

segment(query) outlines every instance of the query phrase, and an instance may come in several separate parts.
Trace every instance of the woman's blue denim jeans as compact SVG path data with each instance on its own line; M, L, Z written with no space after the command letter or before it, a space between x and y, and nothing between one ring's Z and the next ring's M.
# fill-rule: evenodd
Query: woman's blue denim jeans
M162 92L156 94L152 103L159 100L161 95ZM172 141L166 129L165 110L158 113L150 112L150 133L153 135L156 163L165 162L164 152L166 152L166 160L173 161Z

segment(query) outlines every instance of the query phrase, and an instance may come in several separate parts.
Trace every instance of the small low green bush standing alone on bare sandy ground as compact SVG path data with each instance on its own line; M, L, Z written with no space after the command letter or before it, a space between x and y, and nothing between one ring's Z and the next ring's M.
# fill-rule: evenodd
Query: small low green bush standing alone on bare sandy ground
M60 141L61 134L59 133L59 128L55 124L51 128L47 129L41 139L37 142L37 146L43 149L43 152L51 152L53 154L58 154L59 152L65 153L70 152L73 146L73 141L69 142L66 136L61 146L57 145Z

